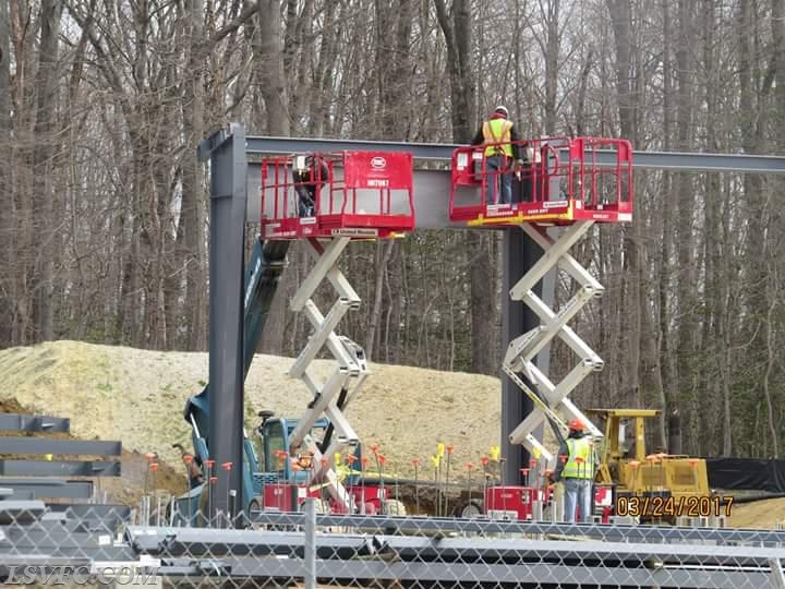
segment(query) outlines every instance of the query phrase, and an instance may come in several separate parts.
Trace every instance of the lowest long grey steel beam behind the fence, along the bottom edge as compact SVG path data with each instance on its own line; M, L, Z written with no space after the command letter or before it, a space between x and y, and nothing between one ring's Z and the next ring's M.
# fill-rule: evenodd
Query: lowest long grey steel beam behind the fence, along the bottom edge
M290 558L221 558L195 564L165 563L158 574L164 577L265 578L297 580L304 578L305 565ZM411 581L446 584L448 587L478 587L481 584L506 584L510 587L545 585L631 586L631 587L765 587L769 573L735 570L629 569L553 564L469 563L386 563L382 561L316 561L318 584ZM376 582L374 582L376 585Z

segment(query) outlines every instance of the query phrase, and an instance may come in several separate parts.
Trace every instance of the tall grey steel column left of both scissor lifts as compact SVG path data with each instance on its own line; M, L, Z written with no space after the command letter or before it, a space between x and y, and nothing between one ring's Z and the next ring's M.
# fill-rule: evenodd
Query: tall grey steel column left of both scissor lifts
M243 271L245 267L245 131L232 124L200 145L200 159L209 157L209 425L206 437L215 517L228 513L229 491L237 492L234 510L244 505L243 473ZM231 462L231 470L222 468ZM207 481L207 484L210 484ZM234 515L234 514L231 514Z

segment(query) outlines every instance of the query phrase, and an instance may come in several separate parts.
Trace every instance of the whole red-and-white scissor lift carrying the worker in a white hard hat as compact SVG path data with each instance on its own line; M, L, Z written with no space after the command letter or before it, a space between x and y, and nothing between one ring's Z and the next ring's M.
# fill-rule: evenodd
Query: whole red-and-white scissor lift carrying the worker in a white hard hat
M568 419L582 421L595 441L603 435L568 398L588 374L604 365L603 360L567 326L584 304L604 291L596 278L569 254L569 249L595 223L632 220L632 147L626 140L602 137L550 137L515 143L527 157L520 169L503 172L514 178L510 203L500 202L499 172L491 169L484 156L488 144L454 152L449 215L452 221L469 226L520 226L543 250L542 259L510 289L510 298L529 305L540 317L541 325L510 342L503 365L505 374L534 404L532 413L512 431L509 441L524 445L533 457L530 467L536 467L543 473L555 468L557 457L533 432L546 419L566 429L555 409L561 409ZM553 226L560 228L553 229ZM536 296L534 287L557 266L570 275L577 289L569 301L554 310ZM580 358L558 383L552 382L533 362L555 337ZM520 374L533 386L520 378ZM509 488L488 490L485 509L499 509L496 500L509 493ZM518 495L514 492L511 496ZM529 497L528 503L547 501L542 486L527 485L520 496ZM608 498L607 489L596 490L595 510L605 517ZM530 513L528 505L517 506L517 502L507 509L516 512L517 517Z

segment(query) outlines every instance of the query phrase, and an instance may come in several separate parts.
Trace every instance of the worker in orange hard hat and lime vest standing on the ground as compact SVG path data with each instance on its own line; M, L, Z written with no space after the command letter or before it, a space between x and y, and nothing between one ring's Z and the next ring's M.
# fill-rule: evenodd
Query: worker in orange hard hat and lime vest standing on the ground
M600 460L594 443L585 434L583 423L573 419L568 424L569 433L559 447L558 464L553 473L553 482L564 482L565 521L576 521L576 507L580 507L580 521L591 521L594 497L592 489Z

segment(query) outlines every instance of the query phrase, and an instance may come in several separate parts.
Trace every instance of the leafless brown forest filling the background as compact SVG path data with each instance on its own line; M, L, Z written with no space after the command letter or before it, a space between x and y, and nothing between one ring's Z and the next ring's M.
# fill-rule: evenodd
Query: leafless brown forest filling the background
M502 103L523 136L781 154L784 3L0 0L0 346L206 349L195 148L229 121L462 143ZM581 405L678 409L685 452L780 455L782 182L637 175L635 224L578 252L607 288L577 324L606 361ZM373 360L498 374L497 236L350 250L364 304L342 326ZM286 293L309 260L290 259L261 351L307 336ZM557 353L556 372L575 360Z

